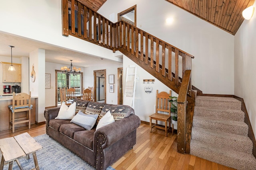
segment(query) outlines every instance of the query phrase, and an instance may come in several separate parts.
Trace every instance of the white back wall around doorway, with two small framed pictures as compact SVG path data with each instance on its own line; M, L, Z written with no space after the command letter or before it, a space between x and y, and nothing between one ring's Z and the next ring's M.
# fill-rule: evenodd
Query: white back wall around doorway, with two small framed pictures
M84 87L94 86L94 70L106 69L105 81L106 81L106 103L117 104L117 68L123 67L122 63L113 63L106 66L91 66L84 67ZM114 93L109 92L108 75L114 74Z

